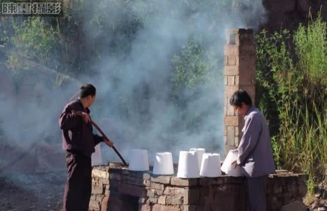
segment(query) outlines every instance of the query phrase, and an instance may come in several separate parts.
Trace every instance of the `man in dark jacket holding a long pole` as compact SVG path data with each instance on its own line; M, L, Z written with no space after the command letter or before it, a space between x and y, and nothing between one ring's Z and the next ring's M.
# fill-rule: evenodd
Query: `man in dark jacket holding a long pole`
M63 109L59 125L62 130L62 148L67 152L67 180L64 192L63 211L87 211L91 190L91 154L94 146L109 139L93 134L89 107L94 103L96 89L85 84L80 89L80 97L68 103Z

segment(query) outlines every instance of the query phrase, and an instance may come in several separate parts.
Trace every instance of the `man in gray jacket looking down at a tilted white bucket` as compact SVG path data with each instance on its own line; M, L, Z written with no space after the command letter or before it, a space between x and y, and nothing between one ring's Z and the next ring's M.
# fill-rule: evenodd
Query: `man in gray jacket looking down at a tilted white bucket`
M235 91L230 104L245 120L243 136L235 149L238 151L237 160L233 165L239 165L246 177L248 210L265 211L268 175L275 173L267 122L258 108L252 105L246 91Z

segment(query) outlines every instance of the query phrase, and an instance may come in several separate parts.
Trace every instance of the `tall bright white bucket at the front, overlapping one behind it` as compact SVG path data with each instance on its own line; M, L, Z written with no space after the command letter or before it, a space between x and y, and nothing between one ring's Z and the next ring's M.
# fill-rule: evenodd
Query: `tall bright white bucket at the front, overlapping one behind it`
M180 151L177 177L198 178L200 177L197 151Z

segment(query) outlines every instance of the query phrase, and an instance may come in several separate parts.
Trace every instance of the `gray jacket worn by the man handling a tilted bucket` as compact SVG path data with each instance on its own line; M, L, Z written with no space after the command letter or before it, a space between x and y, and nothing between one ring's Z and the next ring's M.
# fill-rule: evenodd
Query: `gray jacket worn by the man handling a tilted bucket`
M243 136L238 146L237 164L245 177L275 173L269 129L265 117L252 106L245 117Z

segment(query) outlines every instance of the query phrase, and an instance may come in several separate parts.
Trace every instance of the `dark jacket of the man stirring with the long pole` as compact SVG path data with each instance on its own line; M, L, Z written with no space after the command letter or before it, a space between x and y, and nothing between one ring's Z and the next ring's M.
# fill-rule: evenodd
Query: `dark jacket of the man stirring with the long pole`
M68 103L63 109L59 125L62 130L62 148L68 152L83 154L91 157L94 146L103 142L103 137L93 134L92 124L86 123L81 116L73 114L71 110L90 113L83 107L80 100Z

